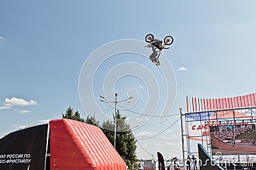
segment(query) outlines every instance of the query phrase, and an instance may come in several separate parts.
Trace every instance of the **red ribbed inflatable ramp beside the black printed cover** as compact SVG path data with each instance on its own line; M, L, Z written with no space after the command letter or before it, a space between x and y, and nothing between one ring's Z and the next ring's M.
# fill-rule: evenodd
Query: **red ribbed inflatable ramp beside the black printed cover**
M69 119L50 122L50 169L126 170L99 127Z

